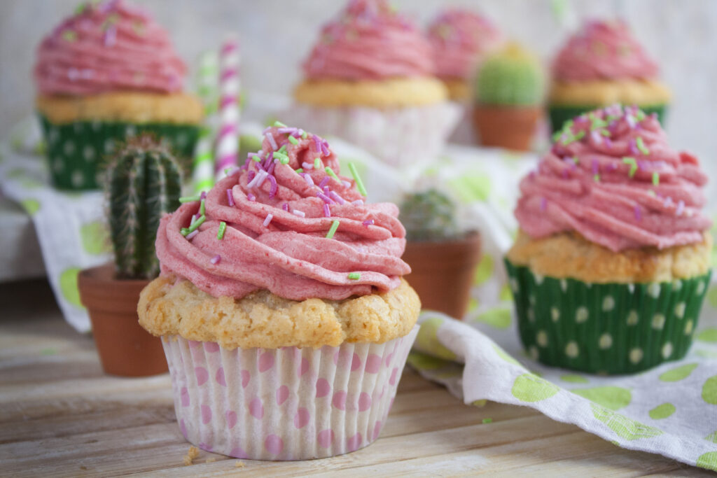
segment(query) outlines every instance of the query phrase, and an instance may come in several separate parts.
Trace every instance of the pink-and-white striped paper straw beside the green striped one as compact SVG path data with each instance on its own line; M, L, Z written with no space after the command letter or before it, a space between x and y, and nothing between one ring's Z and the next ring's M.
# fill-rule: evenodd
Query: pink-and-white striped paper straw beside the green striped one
M237 166L239 149L239 42L229 37L219 54L219 133L214 174L224 177L227 168Z

